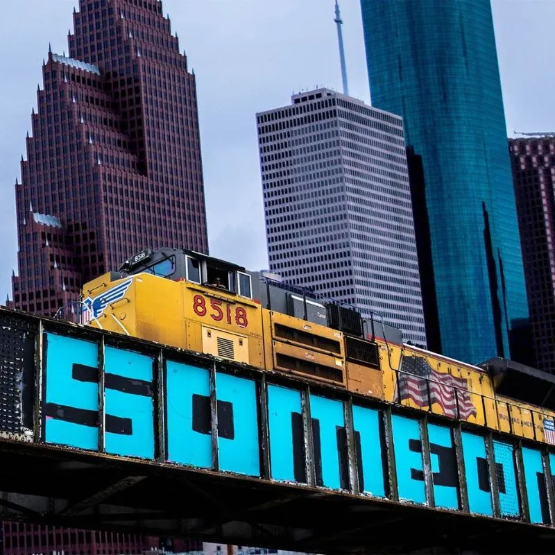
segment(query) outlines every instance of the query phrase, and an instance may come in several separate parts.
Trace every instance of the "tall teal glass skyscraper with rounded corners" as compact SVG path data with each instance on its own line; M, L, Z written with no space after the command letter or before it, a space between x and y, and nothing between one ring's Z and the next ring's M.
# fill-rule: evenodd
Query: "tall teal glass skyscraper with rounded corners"
M490 2L361 6L372 104L404 119L429 348L522 358L528 308Z

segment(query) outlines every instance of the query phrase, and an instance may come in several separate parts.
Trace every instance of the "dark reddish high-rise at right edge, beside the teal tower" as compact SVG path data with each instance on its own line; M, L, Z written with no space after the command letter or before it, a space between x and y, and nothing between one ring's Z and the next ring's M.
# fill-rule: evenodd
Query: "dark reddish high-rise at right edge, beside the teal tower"
M534 363L555 373L555 135L509 139Z

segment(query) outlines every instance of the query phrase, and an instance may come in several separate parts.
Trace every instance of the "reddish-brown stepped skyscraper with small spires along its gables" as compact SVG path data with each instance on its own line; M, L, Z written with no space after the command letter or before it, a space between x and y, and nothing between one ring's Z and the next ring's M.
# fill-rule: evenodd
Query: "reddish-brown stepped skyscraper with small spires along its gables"
M22 182L11 306L52 315L148 246L208 252L196 85L157 0L80 0L49 52Z

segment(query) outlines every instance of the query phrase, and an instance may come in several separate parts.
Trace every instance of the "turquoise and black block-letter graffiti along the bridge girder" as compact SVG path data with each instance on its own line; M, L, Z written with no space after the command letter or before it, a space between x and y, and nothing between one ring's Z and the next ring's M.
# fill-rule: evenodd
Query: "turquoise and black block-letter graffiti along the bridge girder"
M486 438L463 430L457 456L454 430L447 425L398 413L386 424L382 409L277 384L268 384L261 397L257 379L217 371L212 384L210 369L180 361L165 361L159 396L154 357L106 345L101 379L97 343L51 333L45 338L46 443L142 459L162 451L167 463L262 477L261 426L267 422L268 473L275 481L308 484L314 472L316 486L353 491L356 480L361 494L387 498L394 468L402 501L432 504L433 495L434 506L462 510L464 495L472 513L493 516L497 503L503 518L522 518L515 447L507 441L493 441L488 457ZM386 426L392 442L386 441ZM529 518L548 524L552 479L546 479L542 453L531 447L520 452ZM552 465L554 457L549 455Z

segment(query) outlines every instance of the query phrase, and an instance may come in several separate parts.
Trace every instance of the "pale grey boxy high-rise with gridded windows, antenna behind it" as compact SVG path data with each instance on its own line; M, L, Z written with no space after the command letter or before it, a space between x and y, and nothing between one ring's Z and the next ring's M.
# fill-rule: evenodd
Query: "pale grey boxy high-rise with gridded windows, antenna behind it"
M425 345L400 117L317 89L257 126L271 271Z

